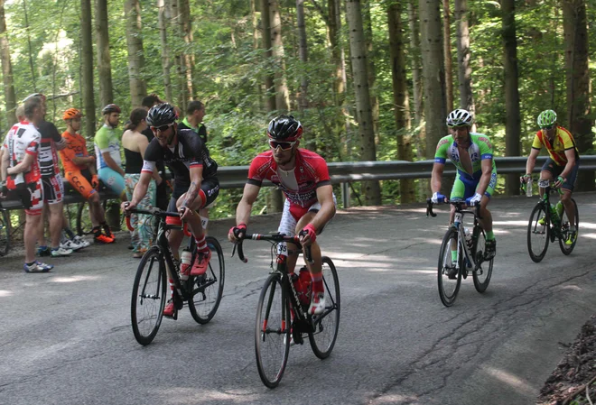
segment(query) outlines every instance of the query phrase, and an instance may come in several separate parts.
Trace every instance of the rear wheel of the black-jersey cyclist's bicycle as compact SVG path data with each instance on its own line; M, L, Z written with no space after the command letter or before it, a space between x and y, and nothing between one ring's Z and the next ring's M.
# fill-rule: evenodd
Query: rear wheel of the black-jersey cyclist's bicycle
M209 268L202 276L189 278L192 289L189 309L192 318L200 324L208 323L215 316L223 295L226 275L221 245L212 236L207 236L205 240L211 250Z

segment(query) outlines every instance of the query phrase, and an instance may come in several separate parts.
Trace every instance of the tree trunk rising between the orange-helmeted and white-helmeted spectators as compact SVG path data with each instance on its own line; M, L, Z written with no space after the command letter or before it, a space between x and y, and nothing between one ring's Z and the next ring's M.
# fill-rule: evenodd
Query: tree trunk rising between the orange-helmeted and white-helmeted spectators
M85 136L95 135L95 92L93 90L93 33L91 0L80 0L80 64L82 101L85 106Z

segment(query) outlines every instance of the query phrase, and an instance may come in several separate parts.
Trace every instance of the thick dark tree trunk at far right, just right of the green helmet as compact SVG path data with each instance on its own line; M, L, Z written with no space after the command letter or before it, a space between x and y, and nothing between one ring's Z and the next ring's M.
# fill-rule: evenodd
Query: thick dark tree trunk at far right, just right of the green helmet
M568 128L573 133L582 155L592 149L594 142L590 119L590 69L585 0L563 0L563 32ZM582 170L578 173L577 189L594 189L593 170Z

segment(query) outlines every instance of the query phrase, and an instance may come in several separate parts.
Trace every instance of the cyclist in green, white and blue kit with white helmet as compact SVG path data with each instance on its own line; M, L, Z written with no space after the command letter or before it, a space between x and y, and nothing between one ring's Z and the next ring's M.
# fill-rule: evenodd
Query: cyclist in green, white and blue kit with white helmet
M441 194L442 170L449 158L457 168L451 200L465 199L469 206L480 204L480 226L486 233L484 258L490 260L497 253L497 241L492 230L492 216L487 209L490 196L497 185L497 166L493 160L492 143L482 133L470 133L473 117L470 112L458 108L447 116L449 135L441 138L434 153L431 189L433 204L445 201ZM455 216L452 206L450 224ZM457 260L457 250L452 250L452 260Z

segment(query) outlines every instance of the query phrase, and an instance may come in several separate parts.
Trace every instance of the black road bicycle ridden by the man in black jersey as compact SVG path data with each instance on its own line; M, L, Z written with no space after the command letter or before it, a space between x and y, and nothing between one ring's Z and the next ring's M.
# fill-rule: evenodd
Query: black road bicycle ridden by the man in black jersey
M188 305L191 316L200 324L208 323L219 308L225 281L225 265L223 252L218 240L207 236L206 242L211 250L209 267L205 274L189 276L183 281L180 276L180 262L174 257L172 248L168 243L167 234L172 229L181 229L181 226L172 226L165 223L167 216L180 217L177 212L162 211L159 208L152 210L131 209L131 214L155 216L157 219L157 238L154 246L144 253L133 284L131 299L131 319L135 339L141 345L149 345L162 323L163 308L169 291L167 272L165 266L173 269L170 272L174 285L173 299L176 310L173 318L178 318L178 311ZM126 216L126 226L130 226L130 216ZM191 236L183 227L184 234ZM190 238L190 251L194 262L197 249L194 237Z

